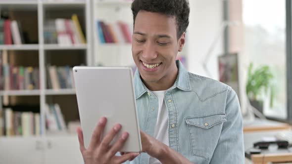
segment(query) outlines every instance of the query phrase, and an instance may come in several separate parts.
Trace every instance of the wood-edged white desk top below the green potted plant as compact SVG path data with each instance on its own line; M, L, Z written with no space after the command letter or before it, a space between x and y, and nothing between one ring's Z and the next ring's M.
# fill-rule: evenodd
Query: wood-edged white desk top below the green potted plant
M288 123L281 123L271 120L254 119L253 121L243 120L243 133L266 130L289 130L291 126Z

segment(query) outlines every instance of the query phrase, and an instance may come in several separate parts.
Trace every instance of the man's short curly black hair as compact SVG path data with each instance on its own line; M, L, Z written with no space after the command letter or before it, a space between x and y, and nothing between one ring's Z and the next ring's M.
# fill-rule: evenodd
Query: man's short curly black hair
M167 16L174 16L177 22L177 38L186 32L189 26L190 5L188 0L134 0L131 6L135 19L140 10L157 12Z

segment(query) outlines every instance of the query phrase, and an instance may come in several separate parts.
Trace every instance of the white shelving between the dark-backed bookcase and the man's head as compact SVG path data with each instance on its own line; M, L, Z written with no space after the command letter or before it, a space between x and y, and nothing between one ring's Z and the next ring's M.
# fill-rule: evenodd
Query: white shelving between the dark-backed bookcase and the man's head
M94 34L94 64L101 66L134 66L132 60L131 42L101 43L98 34L97 21L114 25L122 22L133 32L131 0L93 0L93 34ZM117 32L115 31L115 34ZM121 34L120 34L121 35Z

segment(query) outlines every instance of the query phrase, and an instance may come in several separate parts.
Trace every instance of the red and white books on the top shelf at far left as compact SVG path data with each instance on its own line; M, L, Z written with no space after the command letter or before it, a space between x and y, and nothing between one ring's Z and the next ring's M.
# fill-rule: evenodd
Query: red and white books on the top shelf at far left
M0 19L0 44L24 44L24 35L19 21Z

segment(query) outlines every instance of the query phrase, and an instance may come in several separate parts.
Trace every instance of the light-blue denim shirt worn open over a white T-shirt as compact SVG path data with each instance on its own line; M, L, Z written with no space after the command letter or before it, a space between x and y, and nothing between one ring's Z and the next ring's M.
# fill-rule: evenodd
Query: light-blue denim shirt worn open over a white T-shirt
M189 73L178 60L176 64L177 79L164 95L169 147L195 164L244 164L243 121L235 91ZM134 84L140 129L153 136L158 98L146 88L138 69ZM146 153L130 162L148 163Z

